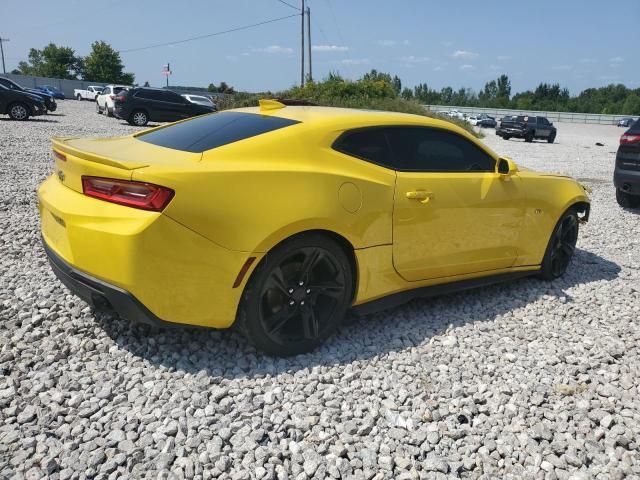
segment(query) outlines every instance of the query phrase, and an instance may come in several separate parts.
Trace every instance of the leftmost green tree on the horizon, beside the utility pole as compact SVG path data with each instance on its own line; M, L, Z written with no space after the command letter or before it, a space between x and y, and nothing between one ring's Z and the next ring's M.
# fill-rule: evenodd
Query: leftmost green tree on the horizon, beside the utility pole
M22 75L75 79L82 73L82 58L69 47L50 43L42 50L29 50L28 61L18 63Z

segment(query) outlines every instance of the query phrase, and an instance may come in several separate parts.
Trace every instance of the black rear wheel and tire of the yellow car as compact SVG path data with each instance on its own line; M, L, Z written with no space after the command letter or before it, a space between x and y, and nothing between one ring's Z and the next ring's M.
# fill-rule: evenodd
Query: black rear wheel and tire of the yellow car
M341 246L324 235L300 235L280 244L258 265L243 292L236 322L268 355L298 355L335 332L352 294L353 272Z

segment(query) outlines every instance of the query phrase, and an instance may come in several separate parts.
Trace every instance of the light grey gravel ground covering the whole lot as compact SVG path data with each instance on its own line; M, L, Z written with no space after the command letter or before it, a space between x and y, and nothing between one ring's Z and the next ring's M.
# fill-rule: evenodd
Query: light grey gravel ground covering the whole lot
M0 477L640 478L640 217L614 199L620 129L560 124L553 145L488 131L593 189L562 279L414 301L282 360L230 332L96 316L54 278L35 201L49 138L133 130L93 109L0 120Z

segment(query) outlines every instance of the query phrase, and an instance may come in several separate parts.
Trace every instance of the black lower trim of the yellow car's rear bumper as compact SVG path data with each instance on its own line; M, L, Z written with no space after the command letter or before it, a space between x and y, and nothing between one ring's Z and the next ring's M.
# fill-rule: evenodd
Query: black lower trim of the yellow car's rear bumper
M110 285L91 275L81 272L56 255L42 239L44 251L49 258L51 269L58 279L74 294L97 310L108 309L120 317L154 326L174 326L158 318L136 297L122 288Z

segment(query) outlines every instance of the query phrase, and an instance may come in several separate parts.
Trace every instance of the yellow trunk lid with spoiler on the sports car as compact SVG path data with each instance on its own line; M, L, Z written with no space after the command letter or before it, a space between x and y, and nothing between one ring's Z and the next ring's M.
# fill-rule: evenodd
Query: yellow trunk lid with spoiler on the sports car
M193 165L202 154L158 147L135 136L116 138L53 138L55 174L67 187L82 192L82 176L131 180L134 170ZM56 152L58 154L56 154Z

